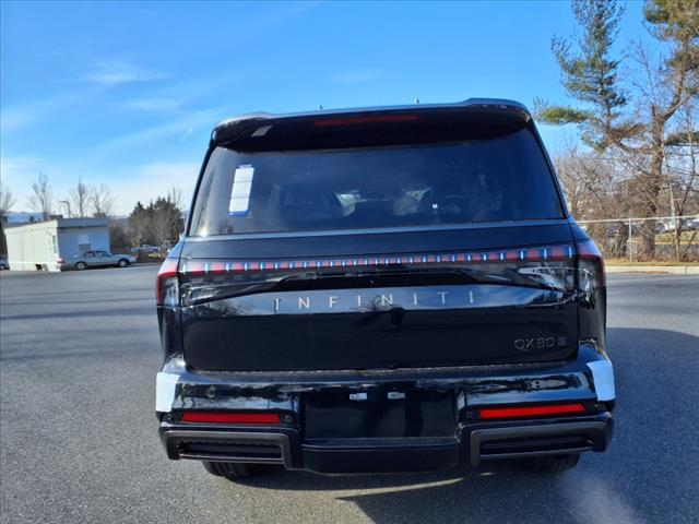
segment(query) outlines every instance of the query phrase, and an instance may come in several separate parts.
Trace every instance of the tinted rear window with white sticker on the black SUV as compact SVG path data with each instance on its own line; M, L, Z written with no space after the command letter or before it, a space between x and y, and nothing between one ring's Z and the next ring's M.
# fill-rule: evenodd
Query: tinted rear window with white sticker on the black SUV
M560 218L528 129L459 143L296 152L215 148L194 236Z

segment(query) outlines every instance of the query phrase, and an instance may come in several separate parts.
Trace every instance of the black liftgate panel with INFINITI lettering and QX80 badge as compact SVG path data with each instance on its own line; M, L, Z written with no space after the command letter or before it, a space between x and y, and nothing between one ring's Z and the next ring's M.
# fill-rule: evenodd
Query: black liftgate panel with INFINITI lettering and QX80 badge
M336 259L187 260L176 277L185 358L199 370L536 362L568 358L577 348L572 242Z

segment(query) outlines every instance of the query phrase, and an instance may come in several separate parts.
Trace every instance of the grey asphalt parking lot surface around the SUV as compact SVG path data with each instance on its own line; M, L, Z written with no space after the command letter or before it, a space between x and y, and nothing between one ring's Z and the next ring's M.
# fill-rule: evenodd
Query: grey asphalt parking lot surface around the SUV
M609 276L616 436L571 472L236 485L157 439L155 271L0 274L1 522L697 522L699 277Z

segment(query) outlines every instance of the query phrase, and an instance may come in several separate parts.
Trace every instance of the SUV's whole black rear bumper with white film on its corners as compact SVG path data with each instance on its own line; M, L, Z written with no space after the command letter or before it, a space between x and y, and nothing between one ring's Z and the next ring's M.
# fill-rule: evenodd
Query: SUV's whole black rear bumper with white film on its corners
M614 390L612 383L609 393L609 383L603 381L605 377L599 373L601 366L594 362L605 361L608 362L604 353L590 345L581 346L574 361L546 366L463 368L458 372L388 371L362 373L360 378L340 376L334 380L328 377L321 380L318 373L265 374L264 382L250 373L199 374L183 367L177 374L173 373L177 362L170 361L162 373L169 379L163 379L162 386L158 383L159 433L173 460L282 464L288 469L323 474L440 471L464 464L477 466L497 458L602 452L613 433ZM400 424L417 413L422 421L418 430L407 424L387 431L381 417L386 419L391 413L395 416L388 401L378 415L366 417L371 420L371 431L362 432L366 424L347 422L346 434L331 434L337 420L366 422L363 412L353 419L354 406L345 404L335 409L334 401L328 406L317 403L319 397L368 392L370 398L387 391L417 391L423 395L420 398L430 398L416 410L407 407L399 410L404 413L403 418L391 420ZM316 404L309 404L310 398ZM571 401L582 403L587 413L509 420L483 420L474 416L483 407ZM445 410L445 403L453 404L453 410ZM430 418L428 409L441 412ZM181 414L186 410L275 412L282 415L282 422L262 427L182 422ZM309 416L331 421L324 426L310 424ZM435 430L437 425L439 428Z

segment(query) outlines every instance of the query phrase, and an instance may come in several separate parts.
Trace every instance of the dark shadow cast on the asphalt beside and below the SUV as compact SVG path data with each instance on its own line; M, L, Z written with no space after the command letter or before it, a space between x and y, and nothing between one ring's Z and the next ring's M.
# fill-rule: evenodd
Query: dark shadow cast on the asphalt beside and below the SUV
M493 462L418 475L286 472L245 484L334 492L377 523L625 524L664 522L668 515L692 522L691 501L699 500L699 338L615 327L608 330L608 348L617 382L616 433L606 453L583 455L570 472L534 475Z

